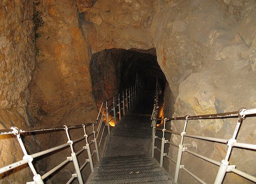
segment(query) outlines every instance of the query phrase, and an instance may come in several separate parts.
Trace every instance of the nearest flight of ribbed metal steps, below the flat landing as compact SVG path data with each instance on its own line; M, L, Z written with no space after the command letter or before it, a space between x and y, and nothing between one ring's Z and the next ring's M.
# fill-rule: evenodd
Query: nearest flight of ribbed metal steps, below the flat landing
M105 157L88 184L172 184L148 155Z

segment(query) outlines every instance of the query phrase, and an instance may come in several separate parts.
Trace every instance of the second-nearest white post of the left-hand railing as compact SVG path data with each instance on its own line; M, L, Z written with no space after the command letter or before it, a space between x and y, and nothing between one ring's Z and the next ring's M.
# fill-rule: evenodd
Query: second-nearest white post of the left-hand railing
M68 126L64 125L64 127L65 127L65 131L66 131L66 135L68 137L68 143L70 143L71 158L72 158L72 161L73 161L73 164L74 164L74 167L75 167L76 176L77 176L79 184L83 184L83 178L82 178L80 167L79 167L79 164L78 164L78 161L77 161L77 156L75 155L75 152L74 152L74 149L73 149L73 141L70 140L70 136L69 136L69 133L68 133Z

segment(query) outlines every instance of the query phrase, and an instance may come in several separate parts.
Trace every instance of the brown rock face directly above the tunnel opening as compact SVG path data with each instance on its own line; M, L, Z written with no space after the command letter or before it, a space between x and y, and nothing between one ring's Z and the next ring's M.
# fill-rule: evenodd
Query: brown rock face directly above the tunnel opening
M96 1L81 13L83 33L92 53L112 48L154 48L150 26L154 14L152 0Z

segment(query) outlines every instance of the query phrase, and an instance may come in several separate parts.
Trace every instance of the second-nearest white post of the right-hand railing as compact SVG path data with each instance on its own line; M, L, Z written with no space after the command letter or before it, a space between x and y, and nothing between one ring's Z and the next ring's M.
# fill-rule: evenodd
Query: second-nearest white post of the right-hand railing
M188 117L189 116L187 115L183 132L181 132L181 143L179 144L179 149L178 149L176 169L175 169L175 175L174 175L174 183L177 183L178 178L179 178L179 171L180 171L180 167L181 167L181 157L182 157L182 152L183 152L183 139L184 139L183 135L186 134L186 126L188 123Z

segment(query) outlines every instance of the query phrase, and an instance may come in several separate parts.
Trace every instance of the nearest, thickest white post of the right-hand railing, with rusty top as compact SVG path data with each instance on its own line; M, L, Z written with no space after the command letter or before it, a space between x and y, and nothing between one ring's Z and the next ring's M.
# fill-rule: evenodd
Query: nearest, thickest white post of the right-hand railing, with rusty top
M226 171L227 171L228 165L229 165L229 157L230 157L230 153L232 151L233 143L237 142L236 141L237 133L238 133L239 127L240 127L240 125L243 121L243 118L244 118L244 116L241 116L241 112L243 112L245 110L246 110L245 108L242 108L237 113L238 114L237 125L235 127L235 131L233 132L232 138L229 139L228 142L227 142L228 150L227 150L227 153L226 153L226 157L225 157L224 160L221 161L221 164L220 164L218 173L216 175L214 184L222 184L222 182L224 180L224 177L226 175Z

